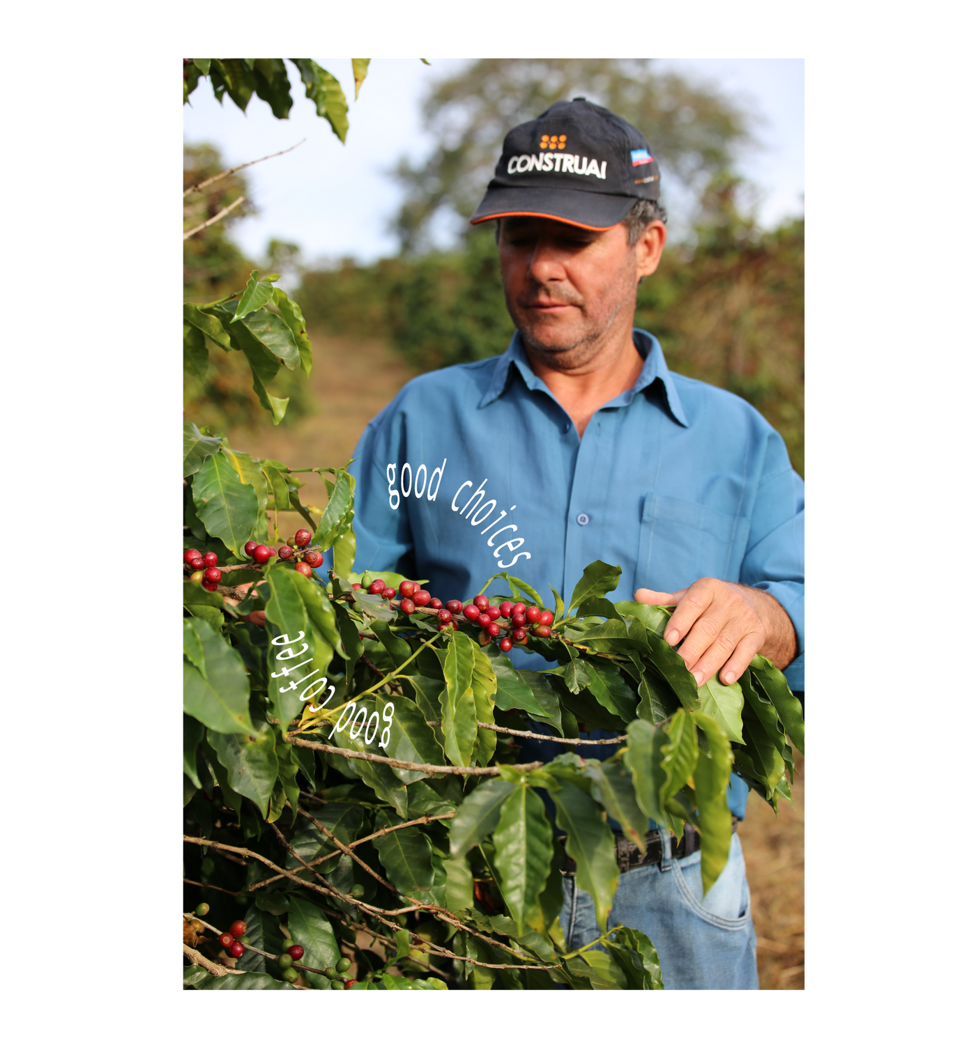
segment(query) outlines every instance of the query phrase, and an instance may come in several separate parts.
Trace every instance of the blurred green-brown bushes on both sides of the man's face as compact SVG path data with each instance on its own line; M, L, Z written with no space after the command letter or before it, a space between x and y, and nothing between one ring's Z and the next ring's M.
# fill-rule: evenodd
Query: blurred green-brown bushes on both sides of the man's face
M740 213L743 191L717 175L693 236L640 286L636 324L658 336L670 369L754 405L806 477L807 223L763 231ZM455 252L306 272L295 294L311 329L390 338L420 371L501 354L513 334L491 228Z

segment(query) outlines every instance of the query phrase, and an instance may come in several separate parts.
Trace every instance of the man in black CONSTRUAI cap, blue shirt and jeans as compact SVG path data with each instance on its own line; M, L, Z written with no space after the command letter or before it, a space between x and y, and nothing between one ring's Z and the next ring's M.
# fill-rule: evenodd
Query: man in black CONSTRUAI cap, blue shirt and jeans
M805 486L759 413L669 373L632 328L665 243L659 194L643 135L583 99L506 135L471 222L497 223L518 331L501 357L408 383L370 423L354 466L357 567L429 579L447 601L502 569L568 596L602 559L623 569L611 601L674 606L666 640L700 684L738 679L760 652L805 690ZM747 793L733 778L740 820ZM693 833L679 850L652 828L647 860L621 862L610 923L650 937L670 990L756 989L739 836L704 900L695 846ZM593 901L572 874L564 898L579 947L598 936Z

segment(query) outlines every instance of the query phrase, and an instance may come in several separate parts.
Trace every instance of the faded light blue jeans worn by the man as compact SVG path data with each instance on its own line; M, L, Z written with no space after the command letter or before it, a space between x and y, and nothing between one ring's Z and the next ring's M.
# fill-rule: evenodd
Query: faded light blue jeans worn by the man
M746 862L739 836L732 836L728 863L702 900L701 853L671 859L664 838L659 864L620 876L608 926L621 923L646 933L661 960L665 991L759 991L755 930ZM568 949L600 936L593 898L573 876L563 878L559 919Z

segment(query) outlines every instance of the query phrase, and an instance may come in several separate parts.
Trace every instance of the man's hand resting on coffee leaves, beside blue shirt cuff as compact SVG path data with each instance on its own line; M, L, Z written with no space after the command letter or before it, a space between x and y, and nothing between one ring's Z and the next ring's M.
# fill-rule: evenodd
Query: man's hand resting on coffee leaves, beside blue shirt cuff
M678 654L700 686L719 668L722 681L738 681L756 653L781 671L796 656L793 622L766 591L706 576L672 594L641 587L634 600L677 607L664 640L676 646L684 638Z

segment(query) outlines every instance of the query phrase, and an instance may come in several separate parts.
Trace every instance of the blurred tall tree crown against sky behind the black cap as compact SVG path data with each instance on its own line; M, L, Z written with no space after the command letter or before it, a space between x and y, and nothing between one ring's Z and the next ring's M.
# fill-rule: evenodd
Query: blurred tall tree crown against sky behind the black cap
M693 218L690 202L751 143L750 122L729 99L657 72L653 62L646 56L491 55L437 82L423 120L438 145L420 164L404 159L397 167L406 200L393 227L402 249L429 246L438 212L468 218L494 174L506 131L579 96L644 132L672 204L676 196L688 201Z

